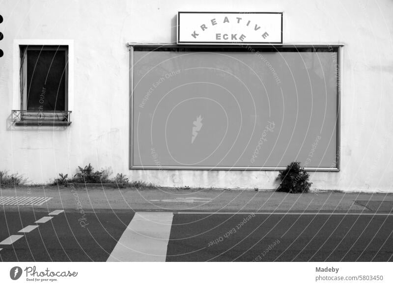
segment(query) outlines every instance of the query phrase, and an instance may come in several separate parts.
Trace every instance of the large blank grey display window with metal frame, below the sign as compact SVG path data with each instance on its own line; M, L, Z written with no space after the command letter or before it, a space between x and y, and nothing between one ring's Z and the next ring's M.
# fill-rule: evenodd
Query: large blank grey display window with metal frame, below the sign
M130 169L339 171L339 48L130 45Z

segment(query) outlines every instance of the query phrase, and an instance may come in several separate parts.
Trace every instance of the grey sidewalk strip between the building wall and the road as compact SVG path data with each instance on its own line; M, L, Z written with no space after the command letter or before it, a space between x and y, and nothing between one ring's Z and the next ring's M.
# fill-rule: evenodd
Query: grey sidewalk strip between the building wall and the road
M286 194L272 191L190 189L17 188L1 197L51 197L42 209L129 209L221 212L390 212L393 194L322 192ZM7 208L8 206L4 206ZM23 208L24 206L19 206Z

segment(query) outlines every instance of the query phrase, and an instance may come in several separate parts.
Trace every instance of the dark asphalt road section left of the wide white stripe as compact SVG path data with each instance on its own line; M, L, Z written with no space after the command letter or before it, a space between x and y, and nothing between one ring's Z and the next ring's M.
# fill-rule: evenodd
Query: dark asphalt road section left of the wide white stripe
M0 214L0 241L44 216L41 209ZM134 213L66 211L14 242L0 245L1 261L106 261ZM84 221L84 227L81 225Z

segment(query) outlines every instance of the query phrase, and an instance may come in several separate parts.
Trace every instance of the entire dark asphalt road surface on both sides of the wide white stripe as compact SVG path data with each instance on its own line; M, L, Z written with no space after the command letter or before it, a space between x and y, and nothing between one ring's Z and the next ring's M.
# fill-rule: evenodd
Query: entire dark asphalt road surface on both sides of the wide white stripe
M48 211L0 211L0 242L39 225L10 245L0 243L1 261L106 261L135 215L130 210L84 215L65 210L34 223ZM174 212L169 231L166 261L393 261L393 216L385 214Z

